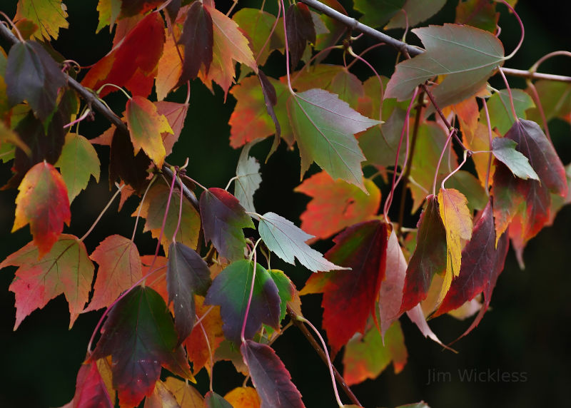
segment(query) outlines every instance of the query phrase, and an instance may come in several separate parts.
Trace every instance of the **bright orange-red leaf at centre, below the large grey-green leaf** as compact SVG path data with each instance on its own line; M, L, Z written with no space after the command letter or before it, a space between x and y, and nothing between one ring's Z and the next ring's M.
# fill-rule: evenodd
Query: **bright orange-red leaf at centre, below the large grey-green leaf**
M313 198L300 215L301 229L325 239L373 217L380 205L380 190L372 180L364 184L368 194L343 180L333 180L324 171L305 179L294 189Z

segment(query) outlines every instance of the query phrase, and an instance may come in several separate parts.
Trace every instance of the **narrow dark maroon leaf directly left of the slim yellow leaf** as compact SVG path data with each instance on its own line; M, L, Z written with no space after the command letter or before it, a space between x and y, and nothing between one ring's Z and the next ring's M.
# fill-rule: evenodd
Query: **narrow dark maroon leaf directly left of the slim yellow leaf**
M446 230L440 219L438 198L429 195L418 220L416 249L408 262L400 312L412 309L428 295L435 273L446 270Z

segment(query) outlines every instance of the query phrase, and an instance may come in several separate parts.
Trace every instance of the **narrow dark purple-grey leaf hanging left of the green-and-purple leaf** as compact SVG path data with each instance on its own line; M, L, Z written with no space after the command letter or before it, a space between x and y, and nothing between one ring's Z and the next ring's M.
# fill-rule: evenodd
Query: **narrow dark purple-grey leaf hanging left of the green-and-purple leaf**
M195 250L173 242L168 248L166 285L168 304L173 302L174 324L180 344L194 327L194 295L205 296L211 285L208 265Z

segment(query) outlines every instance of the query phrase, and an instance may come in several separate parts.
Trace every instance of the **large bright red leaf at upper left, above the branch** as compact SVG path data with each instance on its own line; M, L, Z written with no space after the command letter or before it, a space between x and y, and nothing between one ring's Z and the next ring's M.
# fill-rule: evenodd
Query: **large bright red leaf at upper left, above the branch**
M148 96L153 88L158 60L165 42L164 21L161 14L145 16L128 34L87 72L81 85L97 90L104 83L128 88L133 95ZM141 44L145 44L141 47ZM99 96L117 91L106 86Z

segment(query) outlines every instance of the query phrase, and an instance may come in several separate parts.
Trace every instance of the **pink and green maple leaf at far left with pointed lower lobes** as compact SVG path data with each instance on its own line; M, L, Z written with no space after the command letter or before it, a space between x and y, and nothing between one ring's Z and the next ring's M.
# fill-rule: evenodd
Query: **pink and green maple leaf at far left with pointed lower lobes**
M9 265L18 267L9 287L16 294L14 330L31 312L61 293L69 303L69 327L74 325L89 299L94 277L94 265L84 243L74 235L61 234L43 257L36 245L29 243L6 257L0 269Z

